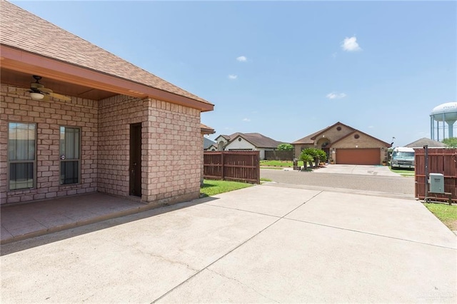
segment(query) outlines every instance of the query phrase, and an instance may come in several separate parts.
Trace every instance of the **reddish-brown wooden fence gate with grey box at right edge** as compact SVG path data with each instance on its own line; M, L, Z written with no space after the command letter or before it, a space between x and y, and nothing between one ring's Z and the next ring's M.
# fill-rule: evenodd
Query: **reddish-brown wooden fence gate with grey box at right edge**
M426 155L425 149L416 151L416 198L426 198ZM451 193L454 203L457 202L457 149L456 148L428 148L428 173L441 173L444 176L444 192ZM429 189L429 188L428 188ZM428 193L436 201L448 201L444 194Z

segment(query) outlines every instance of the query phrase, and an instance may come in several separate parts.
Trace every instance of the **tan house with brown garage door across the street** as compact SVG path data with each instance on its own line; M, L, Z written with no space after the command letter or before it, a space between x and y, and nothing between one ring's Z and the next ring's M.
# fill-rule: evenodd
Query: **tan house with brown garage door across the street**
M391 144L337 122L333 126L305 136L292 143L295 157L299 158L304 148L326 151L334 163L355 165L378 165L387 160Z

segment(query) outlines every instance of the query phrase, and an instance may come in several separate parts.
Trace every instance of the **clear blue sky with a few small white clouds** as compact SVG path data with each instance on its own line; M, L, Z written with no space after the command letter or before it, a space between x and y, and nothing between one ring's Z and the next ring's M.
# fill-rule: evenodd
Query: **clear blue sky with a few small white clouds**
M456 1L11 2L214 103L211 139L340 121L403 146L457 101Z

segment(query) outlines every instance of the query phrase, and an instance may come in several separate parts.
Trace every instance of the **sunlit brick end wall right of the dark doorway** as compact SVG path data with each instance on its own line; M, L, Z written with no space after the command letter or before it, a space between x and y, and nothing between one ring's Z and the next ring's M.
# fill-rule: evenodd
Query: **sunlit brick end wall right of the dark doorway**
M174 203L199 197L203 150L199 110L150 100L143 146L144 201Z

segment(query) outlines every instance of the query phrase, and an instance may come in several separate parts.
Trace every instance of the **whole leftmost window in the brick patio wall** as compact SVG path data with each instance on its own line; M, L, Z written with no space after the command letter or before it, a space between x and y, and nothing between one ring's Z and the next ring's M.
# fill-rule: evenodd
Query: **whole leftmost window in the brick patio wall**
M34 188L36 124L9 123L9 190Z

